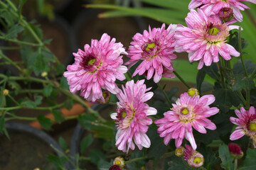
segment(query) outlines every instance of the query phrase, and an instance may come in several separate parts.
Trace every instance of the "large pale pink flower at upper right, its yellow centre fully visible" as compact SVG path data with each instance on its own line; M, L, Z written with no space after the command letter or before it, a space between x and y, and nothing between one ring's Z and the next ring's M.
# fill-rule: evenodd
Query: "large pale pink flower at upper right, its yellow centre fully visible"
M229 31L238 28L238 26L228 26L222 23L218 16L206 16L198 8L198 12L191 10L186 17L188 26L179 25L176 29L176 51L188 52L190 62L198 61L198 69L203 64L210 66L212 62L218 62L220 54L225 60L230 60L230 55L240 56L234 47L225 43L229 36Z

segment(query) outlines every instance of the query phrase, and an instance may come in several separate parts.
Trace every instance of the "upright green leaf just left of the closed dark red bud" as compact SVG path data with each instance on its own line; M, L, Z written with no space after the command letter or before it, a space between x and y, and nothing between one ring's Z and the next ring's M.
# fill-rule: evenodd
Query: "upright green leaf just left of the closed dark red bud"
M220 145L218 152L222 162L220 166L227 170L233 170L234 164L232 162L234 158L231 157L230 155L230 152L228 150L228 145Z

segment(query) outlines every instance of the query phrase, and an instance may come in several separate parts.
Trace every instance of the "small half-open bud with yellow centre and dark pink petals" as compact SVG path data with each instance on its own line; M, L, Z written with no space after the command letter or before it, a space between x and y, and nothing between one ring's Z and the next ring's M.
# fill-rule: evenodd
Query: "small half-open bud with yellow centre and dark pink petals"
M186 149L184 149L184 159L186 162L188 162L189 166L192 166L194 168L199 168L203 166L203 155L194 150L190 145L185 144L185 147Z

